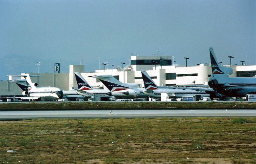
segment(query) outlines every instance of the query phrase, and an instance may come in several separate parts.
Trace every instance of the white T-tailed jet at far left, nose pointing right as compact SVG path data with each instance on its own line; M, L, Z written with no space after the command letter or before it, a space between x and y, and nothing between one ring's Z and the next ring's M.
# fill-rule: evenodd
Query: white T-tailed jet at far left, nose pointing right
M20 75L19 75L20 76ZM22 95L26 97L16 97L20 98L21 100L41 100L41 101L56 101L58 99L62 99L63 91L57 87L37 87L37 83L32 83L30 79L30 75L25 73L21 75L25 78L26 85L22 85L18 82L22 82L24 80L16 80L11 81L15 82L21 89Z

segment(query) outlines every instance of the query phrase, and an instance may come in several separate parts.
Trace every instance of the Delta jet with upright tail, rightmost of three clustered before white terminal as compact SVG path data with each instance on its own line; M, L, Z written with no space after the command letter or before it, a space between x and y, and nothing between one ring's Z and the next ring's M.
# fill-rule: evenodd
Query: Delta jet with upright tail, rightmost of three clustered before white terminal
M184 96L200 96L208 97L209 94L205 91L198 91L195 89L181 89L181 88L172 88L172 87L159 87L154 83L151 77L146 71L141 71L142 79L144 81L145 91L144 93L153 93L156 97L161 98L161 93L167 93L170 97L184 97Z

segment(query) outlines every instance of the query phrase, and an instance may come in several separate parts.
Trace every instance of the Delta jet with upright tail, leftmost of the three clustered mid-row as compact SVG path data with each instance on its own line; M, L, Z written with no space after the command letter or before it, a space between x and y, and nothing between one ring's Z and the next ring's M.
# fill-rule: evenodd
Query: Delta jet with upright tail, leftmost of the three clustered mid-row
M100 99L102 100L108 100L112 97L112 94L108 89L94 89L90 86L79 72L75 72L75 77L78 85L78 90L76 90L78 95L92 97L94 94L100 94Z

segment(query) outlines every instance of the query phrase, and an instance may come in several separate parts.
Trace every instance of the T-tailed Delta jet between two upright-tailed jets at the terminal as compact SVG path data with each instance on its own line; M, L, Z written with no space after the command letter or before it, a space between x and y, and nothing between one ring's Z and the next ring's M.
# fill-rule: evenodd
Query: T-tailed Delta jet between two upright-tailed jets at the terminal
M122 83L112 75L92 76L99 79L112 93L112 96L118 99L147 98L143 93L144 88L137 88L138 83Z

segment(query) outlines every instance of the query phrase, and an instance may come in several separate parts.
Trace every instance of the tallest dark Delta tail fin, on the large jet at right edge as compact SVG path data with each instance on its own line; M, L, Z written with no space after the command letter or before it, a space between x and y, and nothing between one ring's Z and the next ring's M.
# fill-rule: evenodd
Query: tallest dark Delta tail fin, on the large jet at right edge
M210 47L210 58L211 58L212 74L231 75L233 73L233 69L231 67L222 67L218 65L218 61L212 47Z

